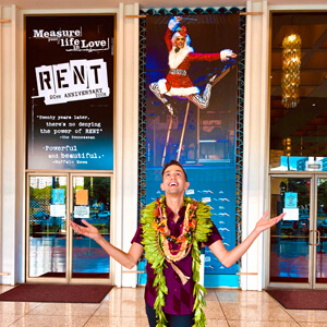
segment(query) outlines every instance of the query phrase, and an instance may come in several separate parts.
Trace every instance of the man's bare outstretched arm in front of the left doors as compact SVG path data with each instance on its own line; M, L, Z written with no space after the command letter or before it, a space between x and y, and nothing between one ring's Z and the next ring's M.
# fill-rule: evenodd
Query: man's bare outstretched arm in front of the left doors
M128 269L132 269L141 258L143 254L143 246L138 243L133 243L129 253L125 253L112 244L110 244L98 231L96 227L88 223L85 219L82 222L86 226L81 226L70 220L72 229L87 238L95 240L111 257Z

